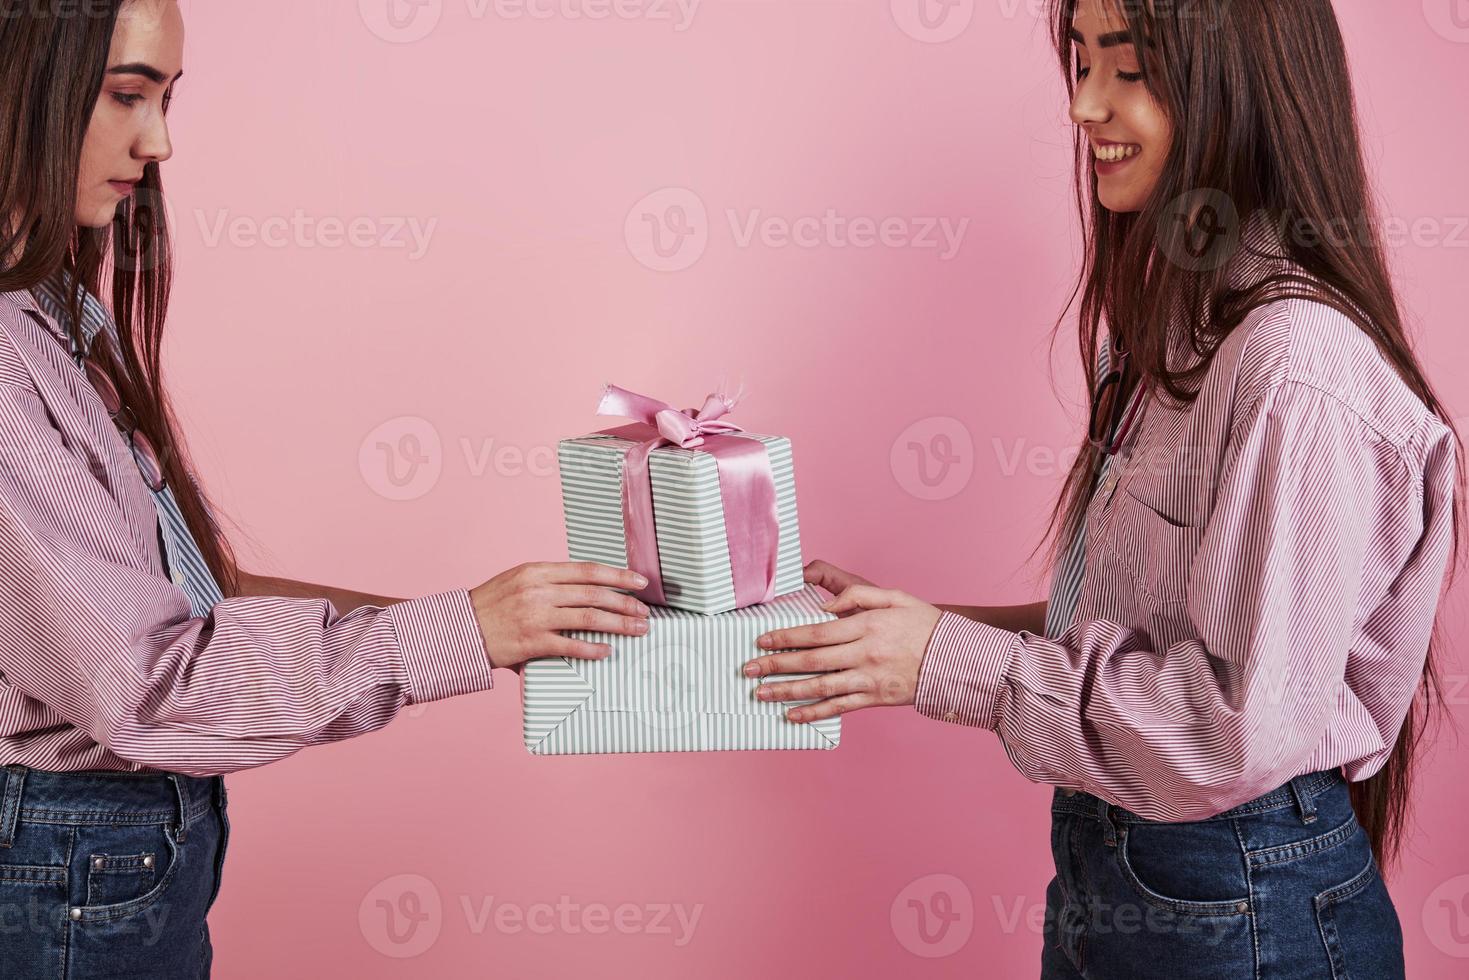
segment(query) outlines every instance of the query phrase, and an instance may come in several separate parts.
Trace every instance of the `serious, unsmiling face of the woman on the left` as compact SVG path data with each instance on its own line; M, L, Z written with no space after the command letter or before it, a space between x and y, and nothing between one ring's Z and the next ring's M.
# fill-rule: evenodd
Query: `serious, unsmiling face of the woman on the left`
M175 0L129 0L118 13L101 94L87 125L76 181L76 223L106 228L142 179L173 156L165 120L184 73L184 18Z

